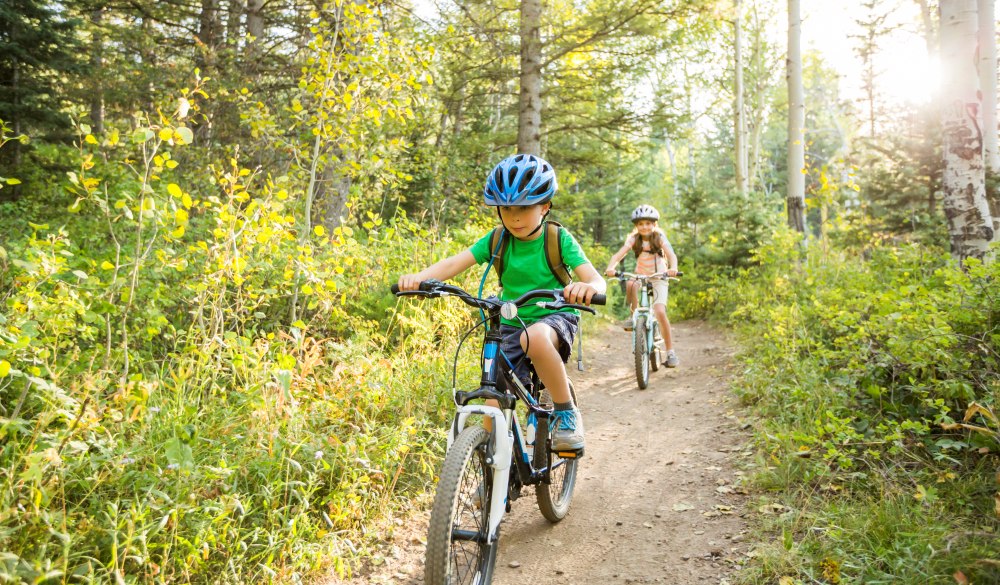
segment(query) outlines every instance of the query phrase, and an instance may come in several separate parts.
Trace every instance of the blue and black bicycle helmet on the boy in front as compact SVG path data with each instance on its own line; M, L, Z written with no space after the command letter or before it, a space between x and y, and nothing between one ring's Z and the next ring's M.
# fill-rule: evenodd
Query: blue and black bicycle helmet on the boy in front
M558 189L552 165L533 154L515 154L500 161L486 177L486 205L536 205L552 199Z

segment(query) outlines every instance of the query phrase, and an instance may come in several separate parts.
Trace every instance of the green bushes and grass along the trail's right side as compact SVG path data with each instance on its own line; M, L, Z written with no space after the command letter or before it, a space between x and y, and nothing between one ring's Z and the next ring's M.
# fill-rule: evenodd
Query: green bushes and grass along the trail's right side
M789 546L761 548L746 581L816 580L827 561L845 582L990 581L1000 268L918 245L807 256L796 237L779 232L736 280L685 283L689 314L739 324L755 482L788 507L762 528Z

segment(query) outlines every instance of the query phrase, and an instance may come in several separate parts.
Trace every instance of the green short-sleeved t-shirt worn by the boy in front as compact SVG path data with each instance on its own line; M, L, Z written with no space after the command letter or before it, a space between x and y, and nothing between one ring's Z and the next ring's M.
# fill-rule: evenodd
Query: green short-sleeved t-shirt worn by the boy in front
M488 232L469 248L469 251L472 252L478 264L485 264L490 261L492 252L490 250L490 235L492 233L492 231ZM559 238L562 244L562 259L566 263L566 266L569 267L570 272L578 266L590 262L587 260L587 255L584 254L583 248L580 247L580 244L568 230L559 230ZM544 234L529 241L518 240L509 234L504 239L506 240L505 245L507 249L504 251L503 257L504 287L500 292L501 300L516 299L529 290L563 288L559 280L549 270L549 265L545 261ZM555 312L550 309L543 309L534 304L528 304L518 309L518 316L525 323L531 324L545 315ZM564 312L579 314L579 311L575 309L566 309ZM502 322L508 325L518 325L517 322L508 321L507 319L502 319Z

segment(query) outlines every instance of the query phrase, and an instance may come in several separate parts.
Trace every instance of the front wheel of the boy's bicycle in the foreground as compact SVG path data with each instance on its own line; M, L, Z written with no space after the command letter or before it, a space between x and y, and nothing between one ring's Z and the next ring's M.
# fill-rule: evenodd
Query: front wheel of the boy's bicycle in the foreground
M489 440L483 427L469 427L445 455L427 530L427 585L488 585L493 580L499 538L487 543L493 496L493 469L486 463Z

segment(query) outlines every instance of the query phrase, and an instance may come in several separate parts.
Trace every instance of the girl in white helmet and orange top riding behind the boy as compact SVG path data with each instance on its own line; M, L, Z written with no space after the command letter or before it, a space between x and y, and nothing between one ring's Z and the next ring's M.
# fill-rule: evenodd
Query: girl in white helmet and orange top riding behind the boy
M628 254L629 250L635 254L636 274L658 274L665 273L667 276L677 276L677 255L670 245L667 235L660 229L657 223L660 219L660 212L651 205L640 205L632 211L632 223L635 229L625 239L625 244L608 261L608 268L604 271L607 276L615 275L615 267ZM653 281L653 314L660 323L660 331L663 332L663 343L666 346L666 359L663 365L668 368L676 368L680 363L677 354L674 353L673 336L670 333L670 320L667 319L667 281ZM638 285L633 281L628 283L628 304L629 310L635 311L639 302ZM631 323L625 327L631 329Z

